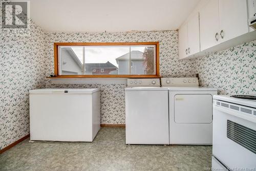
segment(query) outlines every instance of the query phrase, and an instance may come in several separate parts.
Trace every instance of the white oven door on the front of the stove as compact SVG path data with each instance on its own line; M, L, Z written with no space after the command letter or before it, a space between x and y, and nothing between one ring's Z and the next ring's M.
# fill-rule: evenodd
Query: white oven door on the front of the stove
M212 154L227 168L256 167L256 123L254 116L219 106L214 101ZM232 105L233 106L233 105ZM226 109L224 109L226 108ZM244 107L247 108L247 107ZM241 116L241 117L240 117Z

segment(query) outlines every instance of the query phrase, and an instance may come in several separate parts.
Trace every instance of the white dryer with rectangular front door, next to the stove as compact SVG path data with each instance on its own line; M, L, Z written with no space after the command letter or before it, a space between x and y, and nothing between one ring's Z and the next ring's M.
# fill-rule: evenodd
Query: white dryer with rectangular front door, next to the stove
M161 78L169 95L169 143L212 144L212 96L198 78Z

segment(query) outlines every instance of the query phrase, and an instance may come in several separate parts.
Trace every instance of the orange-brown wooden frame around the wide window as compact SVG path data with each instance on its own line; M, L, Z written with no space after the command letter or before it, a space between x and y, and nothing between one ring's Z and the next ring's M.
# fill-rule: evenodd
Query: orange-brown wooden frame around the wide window
M156 46L155 75L58 75L58 46ZM160 78L159 74L159 42L54 42L54 75L51 78Z

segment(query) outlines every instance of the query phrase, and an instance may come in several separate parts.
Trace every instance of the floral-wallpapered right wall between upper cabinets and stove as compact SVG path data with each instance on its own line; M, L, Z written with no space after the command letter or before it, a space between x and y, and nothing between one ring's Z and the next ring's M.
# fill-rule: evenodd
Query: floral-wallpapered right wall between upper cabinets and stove
M256 40L195 60L201 86L219 94L256 94Z

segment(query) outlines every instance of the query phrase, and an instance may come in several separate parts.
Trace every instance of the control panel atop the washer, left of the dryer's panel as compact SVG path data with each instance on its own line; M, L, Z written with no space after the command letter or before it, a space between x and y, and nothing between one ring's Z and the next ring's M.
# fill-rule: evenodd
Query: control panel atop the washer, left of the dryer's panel
M159 78L127 79L127 87L160 87Z

